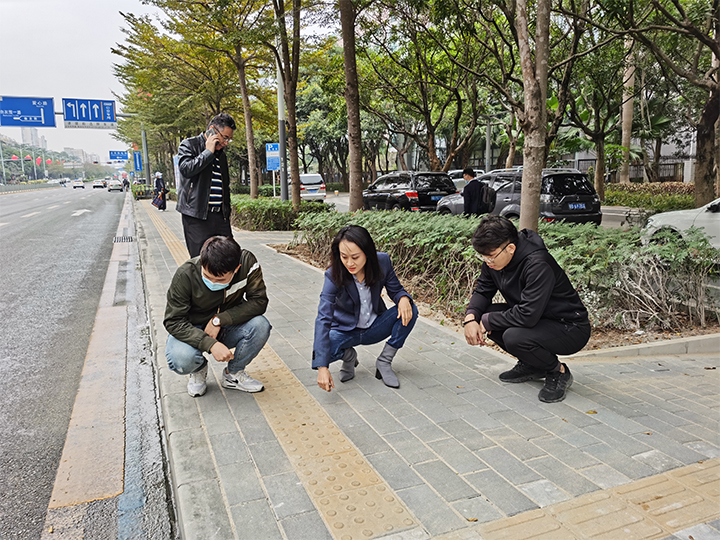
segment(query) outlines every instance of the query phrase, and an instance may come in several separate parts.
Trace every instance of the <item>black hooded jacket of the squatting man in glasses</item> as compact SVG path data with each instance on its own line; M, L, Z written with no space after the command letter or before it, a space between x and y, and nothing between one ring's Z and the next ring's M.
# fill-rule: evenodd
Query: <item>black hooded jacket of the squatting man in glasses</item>
M509 309L486 313L497 291ZM567 274L542 238L528 229L520 231L515 254L505 268L493 270L483 263L466 313L482 320L488 331L532 328L541 318L588 323L587 310Z

